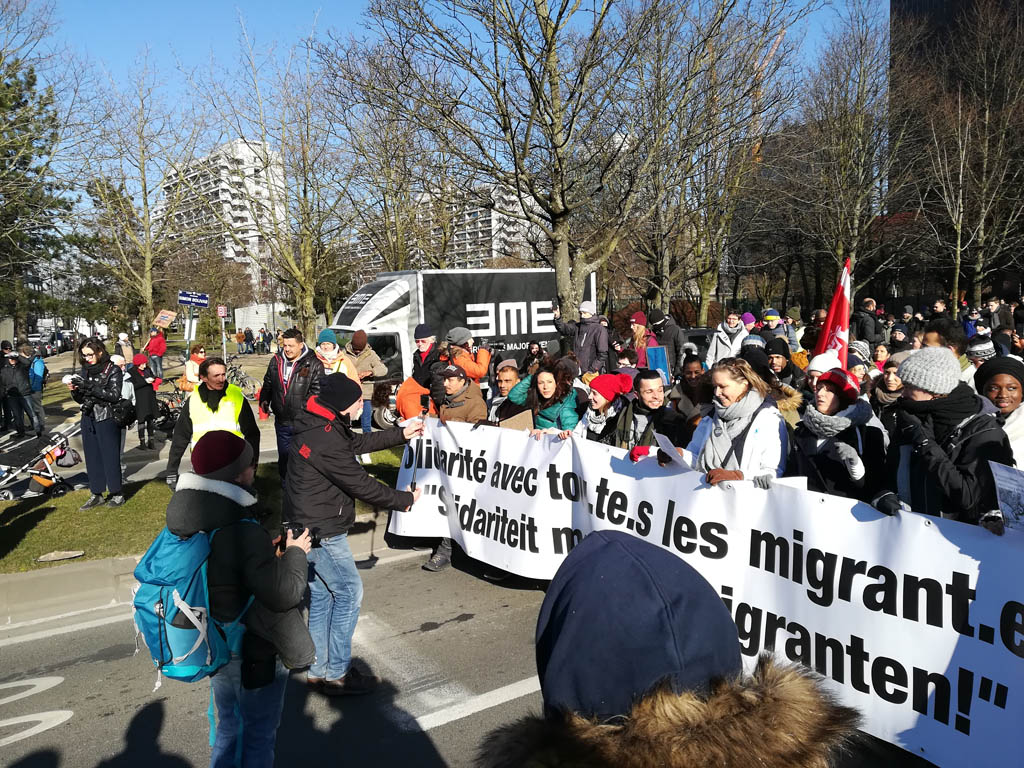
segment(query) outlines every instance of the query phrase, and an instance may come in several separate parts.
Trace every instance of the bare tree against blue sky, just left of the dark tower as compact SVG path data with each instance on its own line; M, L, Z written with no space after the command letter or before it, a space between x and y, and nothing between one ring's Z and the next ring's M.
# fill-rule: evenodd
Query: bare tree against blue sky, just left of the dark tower
M906 245L883 246L870 234L880 218L913 199L913 84L889 78L911 47L907 36L890 40L888 3L851 0L802 96L808 154L787 185L804 212L797 224L838 264L850 259L856 288L892 266Z

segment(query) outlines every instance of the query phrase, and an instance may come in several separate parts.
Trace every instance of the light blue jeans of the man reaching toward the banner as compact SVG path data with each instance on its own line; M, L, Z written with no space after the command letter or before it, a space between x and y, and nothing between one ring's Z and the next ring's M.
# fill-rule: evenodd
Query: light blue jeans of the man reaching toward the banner
M309 635L316 660L309 677L340 680L352 663L352 634L359 618L362 581L348 536L325 539L309 550Z

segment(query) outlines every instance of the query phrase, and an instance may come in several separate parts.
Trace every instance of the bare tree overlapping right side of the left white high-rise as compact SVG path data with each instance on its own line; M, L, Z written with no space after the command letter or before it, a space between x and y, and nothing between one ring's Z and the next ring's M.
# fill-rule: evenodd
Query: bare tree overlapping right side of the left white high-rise
M327 103L327 77L311 38L287 49L257 50L241 30L241 67L223 77L197 79L212 101L223 134L242 139L259 159L266 183L242 184L258 237L225 229L240 252L286 290L298 327L312 336L318 291L342 280L341 247L351 230L346 205L350 169ZM325 302L331 313L330 301Z

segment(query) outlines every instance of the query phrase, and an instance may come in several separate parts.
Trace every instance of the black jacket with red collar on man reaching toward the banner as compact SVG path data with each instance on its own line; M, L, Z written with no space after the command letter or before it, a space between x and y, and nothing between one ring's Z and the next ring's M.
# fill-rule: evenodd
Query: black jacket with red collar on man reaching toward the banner
M401 427L353 432L346 418L310 397L293 422L284 519L327 539L348 532L355 520L356 499L382 509L410 506L410 492L378 482L355 458L404 441Z

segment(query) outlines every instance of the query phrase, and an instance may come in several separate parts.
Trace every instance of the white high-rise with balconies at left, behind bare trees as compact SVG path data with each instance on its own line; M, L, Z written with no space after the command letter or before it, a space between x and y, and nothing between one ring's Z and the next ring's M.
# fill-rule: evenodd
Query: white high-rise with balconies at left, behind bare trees
M283 220L271 189L281 189L283 179L280 153L238 138L168 174L156 214L170 213L179 236L208 241L225 259L245 263L259 287L259 263L268 255L264 233L273 231L274 208Z

